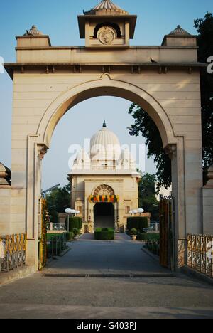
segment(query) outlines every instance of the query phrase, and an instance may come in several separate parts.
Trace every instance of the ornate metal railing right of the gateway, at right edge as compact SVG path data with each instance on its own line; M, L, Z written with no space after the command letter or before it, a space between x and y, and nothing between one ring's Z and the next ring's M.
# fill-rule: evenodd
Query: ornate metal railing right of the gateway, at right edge
M213 278L213 236L187 236L187 265Z

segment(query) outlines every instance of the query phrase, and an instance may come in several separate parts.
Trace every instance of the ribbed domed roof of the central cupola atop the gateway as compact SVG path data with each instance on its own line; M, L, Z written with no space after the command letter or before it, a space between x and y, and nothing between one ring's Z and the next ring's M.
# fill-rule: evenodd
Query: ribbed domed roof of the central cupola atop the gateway
M111 0L102 0L100 4L97 4L93 9L90 11L84 12L85 15L99 15L99 14L122 14L128 15L127 11L121 9L119 6L114 4Z

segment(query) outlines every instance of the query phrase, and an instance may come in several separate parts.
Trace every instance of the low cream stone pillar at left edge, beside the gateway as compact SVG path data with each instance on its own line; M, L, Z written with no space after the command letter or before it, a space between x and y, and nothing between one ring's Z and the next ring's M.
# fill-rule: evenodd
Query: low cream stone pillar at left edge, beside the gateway
M11 171L0 163L0 235L11 234Z

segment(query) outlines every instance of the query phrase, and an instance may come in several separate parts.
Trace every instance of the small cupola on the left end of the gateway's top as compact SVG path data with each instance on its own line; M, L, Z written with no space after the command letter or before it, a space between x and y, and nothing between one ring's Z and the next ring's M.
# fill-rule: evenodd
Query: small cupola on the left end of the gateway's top
M43 35L36 26L32 26L23 36L16 36L18 48L24 47L49 47L51 46L50 37Z

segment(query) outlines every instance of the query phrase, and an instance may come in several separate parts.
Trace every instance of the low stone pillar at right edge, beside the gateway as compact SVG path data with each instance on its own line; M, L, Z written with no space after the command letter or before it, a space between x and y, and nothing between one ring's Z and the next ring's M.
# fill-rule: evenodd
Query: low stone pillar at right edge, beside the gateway
M213 235L213 165L208 170L209 181L202 189L203 232Z

